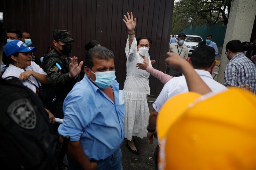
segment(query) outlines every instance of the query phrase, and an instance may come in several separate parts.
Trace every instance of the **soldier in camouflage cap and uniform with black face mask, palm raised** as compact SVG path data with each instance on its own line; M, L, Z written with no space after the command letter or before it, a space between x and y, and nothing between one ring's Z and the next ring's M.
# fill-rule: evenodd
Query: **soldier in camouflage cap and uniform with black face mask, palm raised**
M52 30L54 49L43 60L43 70L48 74L48 81L56 90L56 100L48 108L57 118L63 118L62 105L68 92L75 85L83 62L77 63L77 57L70 57L74 40L70 31Z

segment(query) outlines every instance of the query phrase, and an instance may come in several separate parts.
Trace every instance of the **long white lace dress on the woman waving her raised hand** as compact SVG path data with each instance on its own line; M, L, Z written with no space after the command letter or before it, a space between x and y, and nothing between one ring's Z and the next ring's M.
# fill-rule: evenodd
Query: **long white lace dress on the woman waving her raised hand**
M149 73L146 70L139 70L136 63L143 63L144 59L137 51L137 41L134 37L129 49L129 39L127 39L125 54L126 62L126 79L124 82L124 105L125 118L124 129L125 137L132 140L132 136L140 138L147 136L147 125L149 109L147 94L150 93L148 85ZM150 58L148 64L151 66Z

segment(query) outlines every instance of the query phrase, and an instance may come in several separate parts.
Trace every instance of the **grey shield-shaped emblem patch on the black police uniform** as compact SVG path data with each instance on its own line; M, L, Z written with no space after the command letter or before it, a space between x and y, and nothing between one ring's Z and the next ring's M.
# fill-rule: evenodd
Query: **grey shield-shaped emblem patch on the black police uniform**
M36 126L36 113L28 99L12 102L7 109L7 114L24 129L34 129Z

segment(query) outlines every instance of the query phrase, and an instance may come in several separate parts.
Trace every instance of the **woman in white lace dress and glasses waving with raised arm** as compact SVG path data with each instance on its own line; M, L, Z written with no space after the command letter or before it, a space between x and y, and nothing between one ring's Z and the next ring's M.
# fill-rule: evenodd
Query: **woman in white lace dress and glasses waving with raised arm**
M139 154L133 142L132 136L140 138L147 136L147 125L149 109L147 96L150 92L148 85L149 73L145 70L139 70L137 63L147 63L151 66L150 58L146 55L150 47L147 37L141 37L136 41L135 26L136 18L133 20L127 12L127 17L123 19L128 29L128 39L125 47L126 62L126 80L124 82L124 104L125 118L124 128L125 137L128 139L128 147L135 154Z

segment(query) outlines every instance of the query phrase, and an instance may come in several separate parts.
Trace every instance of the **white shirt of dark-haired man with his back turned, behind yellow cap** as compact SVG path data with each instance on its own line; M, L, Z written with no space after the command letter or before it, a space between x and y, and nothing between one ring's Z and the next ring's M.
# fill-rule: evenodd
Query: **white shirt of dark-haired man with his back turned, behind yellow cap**
M227 87L221 85L217 81L213 80L212 75L209 71L204 70L196 70L196 73L203 79L204 83L210 87L212 92L220 92L227 90ZM188 85L185 79L185 76L175 77L170 79L162 89L161 93L157 97L155 103L153 103L153 107L156 112L159 113L160 109L164 105L164 103L175 96L176 94L188 92Z

